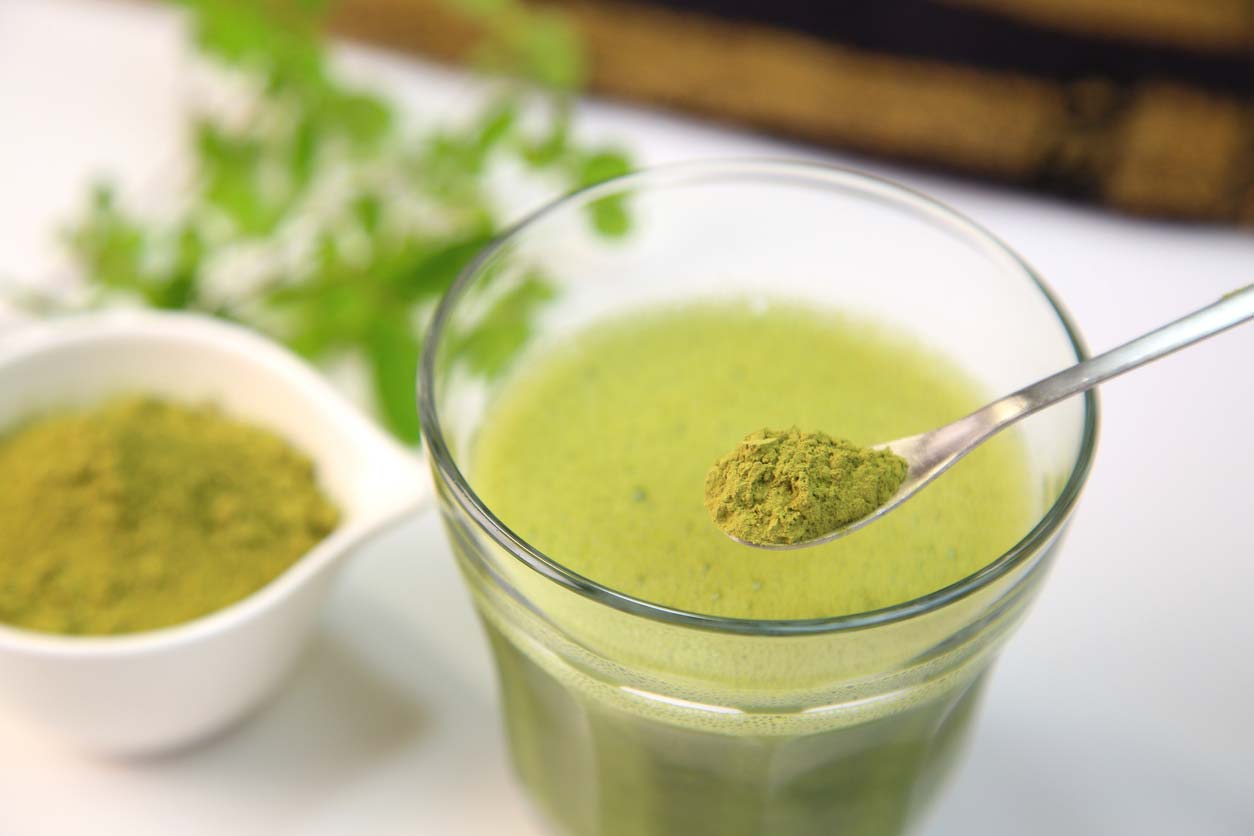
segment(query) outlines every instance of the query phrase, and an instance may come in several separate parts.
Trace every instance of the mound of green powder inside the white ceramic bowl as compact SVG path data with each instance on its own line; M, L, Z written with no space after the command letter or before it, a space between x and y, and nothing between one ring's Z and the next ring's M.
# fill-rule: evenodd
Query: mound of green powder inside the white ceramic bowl
M258 590L339 524L314 464L212 406L127 397L0 436L0 623L105 635Z

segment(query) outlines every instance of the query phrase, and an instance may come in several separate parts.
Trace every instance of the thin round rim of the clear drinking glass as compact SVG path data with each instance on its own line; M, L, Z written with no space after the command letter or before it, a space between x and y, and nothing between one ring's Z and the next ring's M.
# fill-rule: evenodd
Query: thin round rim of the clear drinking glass
M660 183L683 185L711 180L730 182L731 179L745 178L746 175L759 175L771 180L803 180L814 185L824 183L838 187L851 185L854 191L863 193L861 197L864 199L868 197L868 193L878 194L879 198L885 199L893 206L913 209L915 214L922 213L932 221L947 224L952 232L961 233L968 243L978 243L984 249L1008 257L1011 263L1018 268L1023 277L1032 282L1037 292L1050 305L1050 308L1066 332L1071 348L1075 352L1076 362L1088 358L1088 350L1071 316L1032 266L983 226L922 192L884 177L841 165L776 158L732 158L650 167L571 192L514 223L466 264L436 306L435 315L424 340L423 358L419 367L419 415L428 456L439 476L444 480L459 510L469 516L479 529L487 533L510 556L571 592L631 615L719 633L741 635L809 635L879 627L938 610L1006 577L1047 544L1062 529L1071 511L1075 509L1076 500L1087 480L1097 441L1097 396L1093 390L1083 394L1083 435L1081 436L1080 450L1067 476L1067 481L1053 504L1018 543L974 573L940 589L898 604L860 613L804 619L730 618L677 609L643 598L636 598L635 595L628 595L587 578L534 548L505 525L503 520L497 518L487 504L479 499L474 489L470 488L468 479L453 460L453 455L444 440L443 427L436 411L435 353L458 301L479 277L480 271L498 253L509 247L515 238L525 234L537 222L557 212L568 209L574 204L584 204L611 193L621 192L624 188L650 187Z

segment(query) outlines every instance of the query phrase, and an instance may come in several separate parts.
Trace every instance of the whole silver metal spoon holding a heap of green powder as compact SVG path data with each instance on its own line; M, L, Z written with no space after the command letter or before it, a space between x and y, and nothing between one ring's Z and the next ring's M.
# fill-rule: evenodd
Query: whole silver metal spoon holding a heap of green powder
M854 520L834 531L829 531L820 538L801 543L750 543L731 534L727 536L745 545L775 551L806 549L813 545L831 543L888 514L917 494L924 485L952 468L956 461L1011 424L1021 421L1028 415L1066 400L1072 395L1085 392L1105 380L1122 375L1125 371L1131 371L1151 360L1165 357L1206 337L1213 337L1250 318L1254 318L1254 285L1228 293L1218 302L1208 305L1200 311L1194 311L1186 317L1150 331L1117 348L1111 348L1104 355L1050 375L1045 380L1040 380L1012 395L993 401L967 417L958 419L953 424L947 424L935 430L912 435L905 439L874 445L874 449L887 447L909 462L905 481L902 483L902 486L897 489L897 493L887 503L867 516Z

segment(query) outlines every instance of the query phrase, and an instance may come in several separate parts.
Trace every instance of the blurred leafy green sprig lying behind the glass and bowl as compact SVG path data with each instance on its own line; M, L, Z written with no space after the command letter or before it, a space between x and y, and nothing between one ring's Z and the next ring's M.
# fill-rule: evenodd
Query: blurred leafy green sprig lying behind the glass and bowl
M183 0L201 53L245 79L255 100L243 120L197 117L179 211L142 216L114 187L95 187L66 233L90 303L206 312L314 361L355 357L381 420L416 441L426 316L508 221L487 185L493 165L514 159L563 191L631 167L621 150L573 139L571 97L584 59L562 18L519 0L455 3L488 33L484 61L529 84L504 83L469 124L413 134L385 98L336 76L320 9ZM548 114L539 132L523 118L535 97ZM602 234L628 228L618 199L589 212ZM539 274L502 293L477 331L459 337L470 363L499 370L552 293Z

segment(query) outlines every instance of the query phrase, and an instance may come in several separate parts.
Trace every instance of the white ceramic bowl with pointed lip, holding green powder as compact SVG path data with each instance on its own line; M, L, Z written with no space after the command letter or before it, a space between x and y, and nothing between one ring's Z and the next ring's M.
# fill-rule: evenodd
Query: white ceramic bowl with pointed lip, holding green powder
M256 707L291 669L344 558L429 496L413 452L293 355L242 328L128 312L31 326L0 342L0 432L127 392L209 400L275 430L316 461L345 519L275 582L187 624L99 638L0 625L0 709L110 755L184 746Z

